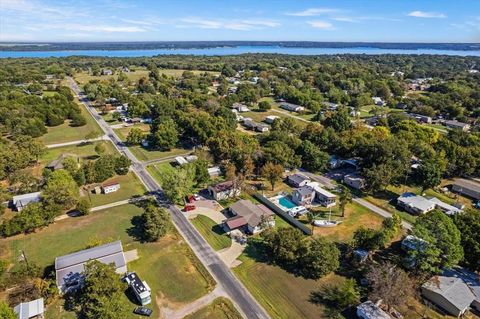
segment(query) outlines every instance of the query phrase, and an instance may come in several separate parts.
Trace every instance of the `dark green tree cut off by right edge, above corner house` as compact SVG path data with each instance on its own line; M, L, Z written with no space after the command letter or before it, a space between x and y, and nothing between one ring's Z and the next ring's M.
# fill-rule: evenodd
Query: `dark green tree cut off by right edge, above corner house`
M463 263L473 271L480 271L480 211L472 209L455 214L453 222L462 234Z

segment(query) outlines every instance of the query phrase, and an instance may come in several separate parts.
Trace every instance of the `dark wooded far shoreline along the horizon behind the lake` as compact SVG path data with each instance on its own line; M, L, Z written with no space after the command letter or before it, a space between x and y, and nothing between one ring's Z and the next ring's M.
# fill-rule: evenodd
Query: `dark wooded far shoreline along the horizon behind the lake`
M0 52L35 51L128 51L187 50L238 47L280 47L303 49L451 50L480 51L480 43L388 43L311 41L145 41L145 42L0 42Z

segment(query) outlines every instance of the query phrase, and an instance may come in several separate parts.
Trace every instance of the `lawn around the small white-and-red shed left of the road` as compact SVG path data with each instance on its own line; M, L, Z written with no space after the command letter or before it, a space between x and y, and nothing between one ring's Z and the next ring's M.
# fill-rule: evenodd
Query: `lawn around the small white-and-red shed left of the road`
M106 180L104 183L111 181L120 183L120 189L110 194L93 194L90 192L86 196L88 196L90 199L92 207L118 202L134 196L141 196L146 191L143 184L132 172L129 172L127 175L118 175L112 177Z

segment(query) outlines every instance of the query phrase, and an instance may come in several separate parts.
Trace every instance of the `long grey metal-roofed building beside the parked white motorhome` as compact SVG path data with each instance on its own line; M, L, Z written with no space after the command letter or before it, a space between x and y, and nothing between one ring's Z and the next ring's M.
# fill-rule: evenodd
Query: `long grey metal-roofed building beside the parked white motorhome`
M85 270L85 264L90 260L97 260L104 264L113 264L117 274L127 272L127 261L123 254L122 242L117 240L55 258L58 289L65 293L81 287L83 284L82 273Z

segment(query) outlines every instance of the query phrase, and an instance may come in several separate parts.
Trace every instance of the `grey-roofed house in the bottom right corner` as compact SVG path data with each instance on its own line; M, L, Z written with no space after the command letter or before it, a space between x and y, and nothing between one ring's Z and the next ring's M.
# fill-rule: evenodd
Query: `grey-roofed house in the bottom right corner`
M446 269L421 287L422 295L452 316L462 316L470 307L480 310L478 275L463 268Z

